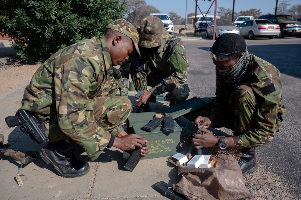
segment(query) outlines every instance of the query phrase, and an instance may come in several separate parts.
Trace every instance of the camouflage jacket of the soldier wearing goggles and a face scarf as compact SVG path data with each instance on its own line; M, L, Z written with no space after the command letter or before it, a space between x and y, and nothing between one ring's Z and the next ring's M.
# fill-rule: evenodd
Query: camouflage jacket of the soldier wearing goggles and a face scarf
M221 111L229 109L229 99L236 87L224 81L218 70L216 70L216 76L216 97L210 114L214 115L218 120L222 117ZM265 92L266 86L271 84L273 84L275 91ZM254 118L250 116L253 129L244 133L238 133L238 136L233 137L235 146L242 148L265 145L273 139L275 132L279 129L282 118L278 118L277 115L283 115L287 111L281 103L282 86L280 72L271 63L250 54L249 66L238 86L240 85L252 88L252 92L256 97L255 103L258 111L255 112ZM249 123L245 122L245 124L248 126Z

